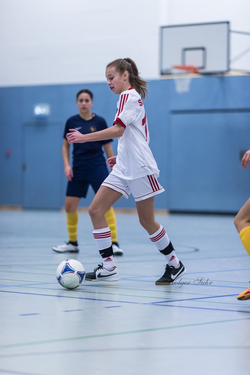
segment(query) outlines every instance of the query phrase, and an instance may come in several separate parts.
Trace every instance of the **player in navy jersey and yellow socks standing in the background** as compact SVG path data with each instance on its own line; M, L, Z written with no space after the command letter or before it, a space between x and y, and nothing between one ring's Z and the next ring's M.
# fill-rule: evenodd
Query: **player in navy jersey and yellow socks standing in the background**
M69 241L64 245L54 246L54 251L78 252L77 242L77 224L78 213L77 206L81 197L85 198L88 186L91 185L94 192L97 192L103 180L108 176L108 168L103 156L102 146L107 157L114 155L111 142L112 139L102 141L86 142L84 144L74 144L73 147L73 168L69 164L69 143L66 134L69 129L76 129L80 133L94 133L107 129L104 118L91 113L93 106L93 94L90 90L84 89L76 95L76 105L79 108L79 114L70 117L65 125L63 135L63 163L64 173L69 180L66 192L65 209L67 214L67 228ZM115 222L115 213L112 207L108 207L105 213L108 226L111 230L111 239L115 255L122 255L123 250L119 248L117 242L117 230Z

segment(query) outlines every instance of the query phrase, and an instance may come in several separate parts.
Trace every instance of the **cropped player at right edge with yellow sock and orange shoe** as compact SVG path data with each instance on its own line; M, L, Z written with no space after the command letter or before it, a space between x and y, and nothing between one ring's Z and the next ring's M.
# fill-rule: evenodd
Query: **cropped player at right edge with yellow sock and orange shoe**
M242 160L241 166L247 168L250 166L250 150L248 150ZM235 227L239 233L241 242L246 249L248 255L250 255L250 198L246 201L240 211L237 213L234 219ZM250 287L244 292L240 293L237 297L238 300L249 300L250 299Z

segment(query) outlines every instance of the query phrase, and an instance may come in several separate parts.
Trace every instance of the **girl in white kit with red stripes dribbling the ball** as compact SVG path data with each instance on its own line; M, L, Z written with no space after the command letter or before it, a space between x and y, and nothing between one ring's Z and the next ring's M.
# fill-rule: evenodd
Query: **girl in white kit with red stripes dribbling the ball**
M148 232L149 239L166 257L165 273L156 284L172 284L186 270L175 255L165 229L154 217L154 195L162 193L164 189L157 181L159 169L148 146L147 116L142 103L147 94L147 83L139 76L130 58L119 58L109 63L106 78L111 91L120 95L114 126L91 134L69 129L71 133L66 135L70 144L118 138L117 156L107 161L112 172L103 181L88 210L102 264L93 272L86 273L85 280L119 280L105 213L121 196L128 198L132 193L139 222Z

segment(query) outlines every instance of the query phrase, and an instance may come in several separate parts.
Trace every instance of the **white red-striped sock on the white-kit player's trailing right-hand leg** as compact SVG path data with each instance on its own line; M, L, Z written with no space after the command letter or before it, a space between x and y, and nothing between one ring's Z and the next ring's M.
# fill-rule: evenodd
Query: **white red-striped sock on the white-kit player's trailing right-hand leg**
M160 228L156 231L156 233L149 234L148 237L154 243L154 245L156 245L157 249L163 255L165 255L168 265L178 268L179 260L175 255L172 243L170 242L163 226L160 225Z

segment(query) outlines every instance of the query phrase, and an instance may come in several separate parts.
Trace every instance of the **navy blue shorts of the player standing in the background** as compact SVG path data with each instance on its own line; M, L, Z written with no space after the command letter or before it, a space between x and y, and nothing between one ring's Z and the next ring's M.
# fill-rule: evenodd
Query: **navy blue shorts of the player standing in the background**
M95 193L103 183L109 172L106 164L95 166L94 168L73 167L72 181L68 182L66 195L85 198L88 186L91 185Z

